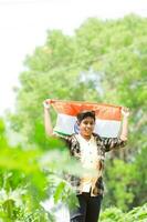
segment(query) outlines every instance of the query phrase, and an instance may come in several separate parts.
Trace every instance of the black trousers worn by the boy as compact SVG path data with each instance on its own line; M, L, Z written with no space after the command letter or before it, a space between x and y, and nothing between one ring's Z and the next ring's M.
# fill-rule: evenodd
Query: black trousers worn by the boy
M70 212L70 222L97 222L103 196L82 193L77 199L80 206Z

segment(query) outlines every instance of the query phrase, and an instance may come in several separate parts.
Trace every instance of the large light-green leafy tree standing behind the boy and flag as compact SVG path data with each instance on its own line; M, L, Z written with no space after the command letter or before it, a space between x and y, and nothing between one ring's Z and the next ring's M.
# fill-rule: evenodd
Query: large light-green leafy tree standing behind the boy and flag
M107 193L111 204L124 209L146 202L144 167L147 161L140 154L147 148L146 46L147 19L135 14L118 20L88 19L72 37L49 31L44 46L25 59L25 70L20 73L21 87L17 90L15 113L10 114L12 128L29 143L48 149L42 109L45 98L129 107L128 145L119 153L112 153L107 165L111 169L116 165L114 158L124 162L116 160L117 168L106 173L107 188L114 190L113 194L111 190ZM52 115L55 119L55 114ZM138 169L143 174L137 173ZM120 188L126 188L125 193L111 183L119 172L126 176L125 181L119 179Z

